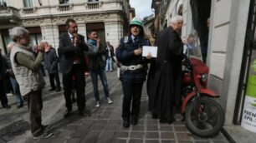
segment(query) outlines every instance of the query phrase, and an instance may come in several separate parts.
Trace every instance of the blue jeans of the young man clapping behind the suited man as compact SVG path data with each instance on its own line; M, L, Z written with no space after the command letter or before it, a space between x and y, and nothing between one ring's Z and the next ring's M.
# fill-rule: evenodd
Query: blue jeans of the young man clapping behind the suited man
M98 90L98 76L100 76L100 80L102 82L102 86L104 88L105 92L105 98L109 97L109 87L108 87L108 81L106 79L105 71L91 71L90 72L90 77L91 81L94 86L94 95L95 95L95 101L100 101L100 96L99 96L99 90Z

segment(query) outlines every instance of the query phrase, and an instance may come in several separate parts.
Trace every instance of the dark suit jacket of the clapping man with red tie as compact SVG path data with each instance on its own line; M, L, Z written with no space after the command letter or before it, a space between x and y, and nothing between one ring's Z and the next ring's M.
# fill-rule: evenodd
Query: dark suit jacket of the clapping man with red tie
M74 64L74 54L77 54L79 61L81 62L81 70L88 71L87 64L85 62L84 52L88 51L88 46L84 42L84 36L79 35L79 42L74 47L69 33L66 32L59 37L59 71L63 74L69 73Z

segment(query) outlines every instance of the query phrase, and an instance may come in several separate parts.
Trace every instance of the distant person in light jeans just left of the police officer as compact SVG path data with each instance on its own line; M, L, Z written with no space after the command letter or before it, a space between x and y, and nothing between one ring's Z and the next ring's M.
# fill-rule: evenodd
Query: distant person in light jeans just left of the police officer
M115 62L114 56L114 47L110 45L110 42L105 42L105 72L113 72L113 62Z

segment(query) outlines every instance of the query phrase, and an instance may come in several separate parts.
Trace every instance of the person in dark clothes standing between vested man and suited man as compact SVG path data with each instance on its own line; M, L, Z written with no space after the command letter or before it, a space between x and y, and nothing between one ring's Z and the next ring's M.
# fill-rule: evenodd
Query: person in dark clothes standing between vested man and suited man
M44 64L49 73L49 81L51 85L51 89L49 89L49 91L61 91L58 67L59 57L57 57L56 51L48 42L45 42ZM56 86L54 80L56 81Z

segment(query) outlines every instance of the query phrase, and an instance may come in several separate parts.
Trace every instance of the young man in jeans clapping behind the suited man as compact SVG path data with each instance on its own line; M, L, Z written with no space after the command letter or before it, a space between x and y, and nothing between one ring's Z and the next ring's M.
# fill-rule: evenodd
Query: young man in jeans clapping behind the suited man
M100 95L98 90L98 76L100 76L100 81L104 88L105 92L105 100L112 104L113 101L110 99L110 92L108 87L108 81L105 74L105 61L103 60L103 56L105 54L105 49L100 45L100 38L98 37L98 33L96 31L88 32L89 40L87 41L90 46L90 50L87 53L89 57L89 69L90 69L90 77L94 86L94 95L96 105L95 107L100 107Z

